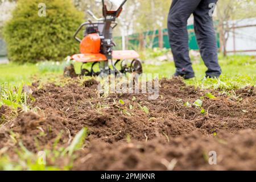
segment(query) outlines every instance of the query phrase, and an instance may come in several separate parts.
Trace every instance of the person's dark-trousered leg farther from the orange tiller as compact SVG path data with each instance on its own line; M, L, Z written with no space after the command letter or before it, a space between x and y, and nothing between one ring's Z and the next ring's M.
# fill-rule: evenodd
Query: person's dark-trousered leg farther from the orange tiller
M218 48L213 19L209 14L211 10L211 7L209 7L210 3L217 3L217 0L203 0L200 2L193 13L194 26L201 57L208 68L206 76L219 77L221 75L221 68L218 64Z

